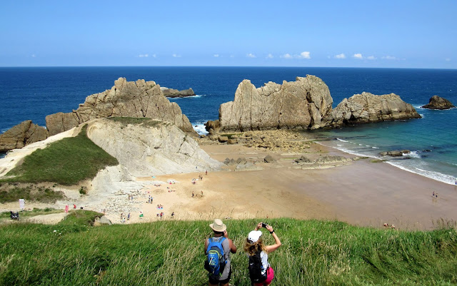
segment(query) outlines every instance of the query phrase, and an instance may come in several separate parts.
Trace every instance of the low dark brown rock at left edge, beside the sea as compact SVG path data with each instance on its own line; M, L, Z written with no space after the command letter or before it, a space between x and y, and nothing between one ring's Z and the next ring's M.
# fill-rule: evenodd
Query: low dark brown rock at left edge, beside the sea
M0 135L0 152L20 149L46 138L48 138L46 128L32 123L31 120L23 121Z

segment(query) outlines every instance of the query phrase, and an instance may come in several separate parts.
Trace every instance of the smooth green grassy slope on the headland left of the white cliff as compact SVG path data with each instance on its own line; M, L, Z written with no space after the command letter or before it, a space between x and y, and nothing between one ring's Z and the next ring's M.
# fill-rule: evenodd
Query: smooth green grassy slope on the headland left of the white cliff
M92 179L107 165L118 165L116 158L106 153L86 136L86 126L76 137L64 138L35 150L24 163L9 171L1 181L20 183L55 182L76 185Z

